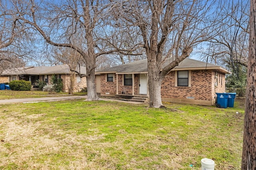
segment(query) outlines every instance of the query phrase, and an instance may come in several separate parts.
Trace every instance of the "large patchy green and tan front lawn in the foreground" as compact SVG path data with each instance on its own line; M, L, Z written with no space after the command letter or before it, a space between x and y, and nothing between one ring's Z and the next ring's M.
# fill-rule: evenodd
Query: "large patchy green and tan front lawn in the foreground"
M213 159L215 170L240 169L243 102L227 109L83 100L0 105L0 169L199 170L202 158Z

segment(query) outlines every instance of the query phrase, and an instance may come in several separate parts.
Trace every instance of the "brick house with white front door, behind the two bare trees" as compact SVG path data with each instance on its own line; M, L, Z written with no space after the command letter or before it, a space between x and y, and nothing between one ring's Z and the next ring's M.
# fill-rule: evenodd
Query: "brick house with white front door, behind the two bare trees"
M163 66L169 62L170 58ZM147 73L147 59L98 70L96 90L101 96L148 96ZM218 65L187 58L166 75L161 86L162 101L212 106L215 93L225 92L227 73Z

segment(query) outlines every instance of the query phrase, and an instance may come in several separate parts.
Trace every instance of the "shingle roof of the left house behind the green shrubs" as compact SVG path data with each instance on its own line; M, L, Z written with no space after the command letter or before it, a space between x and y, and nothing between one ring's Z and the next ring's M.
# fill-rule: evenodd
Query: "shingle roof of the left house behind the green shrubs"
M86 74L86 68L81 67L81 74ZM56 66L37 66L37 67L22 67L22 68L12 68L5 70L2 76L7 75L44 75L44 74L69 74L70 69L67 64L56 65Z

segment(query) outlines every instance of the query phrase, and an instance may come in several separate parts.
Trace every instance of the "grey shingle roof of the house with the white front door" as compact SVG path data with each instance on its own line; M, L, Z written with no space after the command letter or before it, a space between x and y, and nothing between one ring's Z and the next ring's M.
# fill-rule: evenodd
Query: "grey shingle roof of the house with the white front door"
M170 63L170 58L165 61L162 68ZM178 66L176 66L173 70L205 70L205 69L216 69L223 73L230 73L225 68L222 68L221 66L205 63L202 61L194 60L194 59L184 59ZM125 73L146 73L148 72L148 64L147 59L140 60L140 61L134 61L132 63L122 64L119 66L106 68L104 70L98 70L96 71L96 74L100 73L116 73L116 74L125 74Z

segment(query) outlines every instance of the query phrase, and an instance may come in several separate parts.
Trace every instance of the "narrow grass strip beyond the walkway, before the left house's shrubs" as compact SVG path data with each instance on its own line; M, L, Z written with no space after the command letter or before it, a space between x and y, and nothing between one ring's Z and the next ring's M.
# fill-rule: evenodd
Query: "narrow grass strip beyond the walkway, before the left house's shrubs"
M44 98L48 95L67 95L68 93L60 92L43 92L43 91L14 91L14 90L0 90L0 100L3 99L21 99L21 98ZM74 96L86 95L87 93L73 93Z

